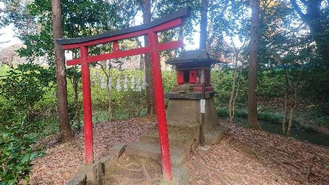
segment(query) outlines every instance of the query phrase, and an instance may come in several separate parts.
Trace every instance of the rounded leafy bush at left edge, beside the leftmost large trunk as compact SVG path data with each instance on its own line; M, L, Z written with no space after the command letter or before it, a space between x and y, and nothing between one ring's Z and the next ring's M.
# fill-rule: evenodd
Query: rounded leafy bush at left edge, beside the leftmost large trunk
M21 64L0 77L2 124L23 121L31 108L43 98L47 87L54 80L50 69L36 64Z

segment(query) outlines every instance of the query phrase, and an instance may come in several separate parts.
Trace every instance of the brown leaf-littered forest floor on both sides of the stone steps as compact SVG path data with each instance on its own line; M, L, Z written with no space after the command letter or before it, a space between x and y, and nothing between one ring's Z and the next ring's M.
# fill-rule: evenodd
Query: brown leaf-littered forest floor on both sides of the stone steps
M220 122L229 136L207 153L193 147L188 156L190 184L329 184L329 147ZM94 124L95 160L115 143L130 143L156 125L154 118ZM83 132L57 144L58 136L40 140L46 155L34 161L32 184L65 184L84 162Z

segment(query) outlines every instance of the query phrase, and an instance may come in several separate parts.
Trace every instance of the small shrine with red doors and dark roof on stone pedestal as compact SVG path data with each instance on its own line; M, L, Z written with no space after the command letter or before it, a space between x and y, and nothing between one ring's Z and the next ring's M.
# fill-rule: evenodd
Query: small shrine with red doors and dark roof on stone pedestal
M214 88L210 82L211 65L216 63L220 63L220 61L210 58L209 53L205 50L183 51L177 58L166 62L166 64L175 66L177 75L172 93L165 95L166 98L169 98L168 122L181 122L182 124L201 122L200 99L202 99L202 84L205 83L204 132L210 132L218 126ZM206 138L206 143L210 142Z

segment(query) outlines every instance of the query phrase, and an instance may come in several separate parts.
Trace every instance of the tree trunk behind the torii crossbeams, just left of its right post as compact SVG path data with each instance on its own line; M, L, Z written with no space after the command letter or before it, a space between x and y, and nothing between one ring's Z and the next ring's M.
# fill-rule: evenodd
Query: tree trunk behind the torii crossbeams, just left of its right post
M151 22L151 1L143 0L143 23L147 24ZM144 45L149 45L148 36L144 36ZM148 103L148 115L155 115L155 101L154 101L154 87L152 78L152 65L151 58L148 53L144 54L144 65L145 65L145 78L148 84L147 88L147 103Z

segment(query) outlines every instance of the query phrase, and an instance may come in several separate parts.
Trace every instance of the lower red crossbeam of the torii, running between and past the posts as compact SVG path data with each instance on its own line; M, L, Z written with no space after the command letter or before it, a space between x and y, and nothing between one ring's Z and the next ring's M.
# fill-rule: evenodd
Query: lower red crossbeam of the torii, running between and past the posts
M160 47L162 50L166 50L166 49L173 49L173 48L181 47L182 44L183 43L181 41L170 41L170 42L166 42L166 43L161 43L158 45L158 47ZM124 50L124 51L119 50L119 51L116 51L113 53L106 53L106 54L90 56L90 57L88 57L88 63L109 60L109 59L122 58L122 57L129 57L132 55L144 54L144 53L148 53L148 52L149 52L148 47L141 47L141 48L135 48L135 49L130 49L130 50ZM79 64L81 64L80 58L66 61L67 66L79 65Z

